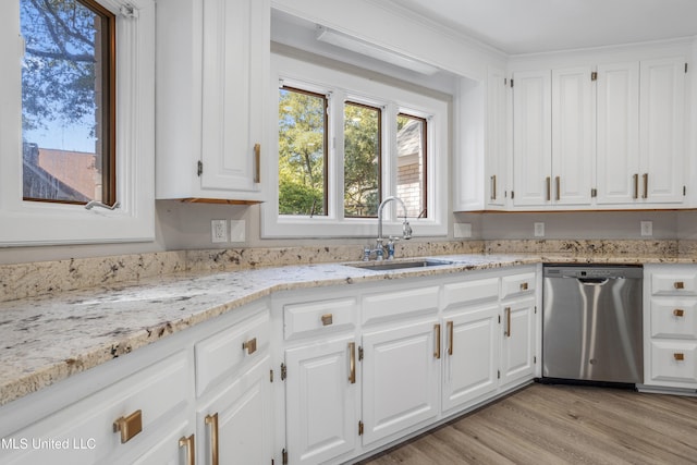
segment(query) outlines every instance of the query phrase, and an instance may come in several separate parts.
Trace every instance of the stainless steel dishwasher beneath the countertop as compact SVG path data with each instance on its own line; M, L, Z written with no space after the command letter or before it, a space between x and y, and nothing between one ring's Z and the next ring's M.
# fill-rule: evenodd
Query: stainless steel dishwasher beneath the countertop
M545 266L542 382L644 382L640 266Z

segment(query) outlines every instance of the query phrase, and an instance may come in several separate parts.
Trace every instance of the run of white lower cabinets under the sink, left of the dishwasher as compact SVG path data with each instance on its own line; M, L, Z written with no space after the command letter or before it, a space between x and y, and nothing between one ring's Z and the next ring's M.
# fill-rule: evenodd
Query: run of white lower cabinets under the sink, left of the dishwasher
M288 464L352 462L530 382L537 276L513 267L272 297Z

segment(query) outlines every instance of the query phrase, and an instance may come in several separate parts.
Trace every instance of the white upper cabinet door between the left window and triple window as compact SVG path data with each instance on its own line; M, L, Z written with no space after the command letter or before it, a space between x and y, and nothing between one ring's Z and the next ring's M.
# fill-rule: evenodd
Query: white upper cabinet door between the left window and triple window
M201 188L258 191L268 3L205 0ZM265 41L265 39L267 41Z

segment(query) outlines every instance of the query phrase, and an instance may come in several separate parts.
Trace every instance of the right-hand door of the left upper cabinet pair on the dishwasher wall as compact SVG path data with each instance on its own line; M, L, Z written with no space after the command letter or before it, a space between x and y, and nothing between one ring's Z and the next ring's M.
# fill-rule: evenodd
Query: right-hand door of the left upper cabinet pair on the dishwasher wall
M596 105L591 69L553 70L553 204L590 205L595 155Z

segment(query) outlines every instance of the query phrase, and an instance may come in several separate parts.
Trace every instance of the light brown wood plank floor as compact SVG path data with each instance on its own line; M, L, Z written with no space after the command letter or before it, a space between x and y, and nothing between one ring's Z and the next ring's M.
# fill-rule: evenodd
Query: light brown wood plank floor
M531 384L362 464L697 464L697 397Z

